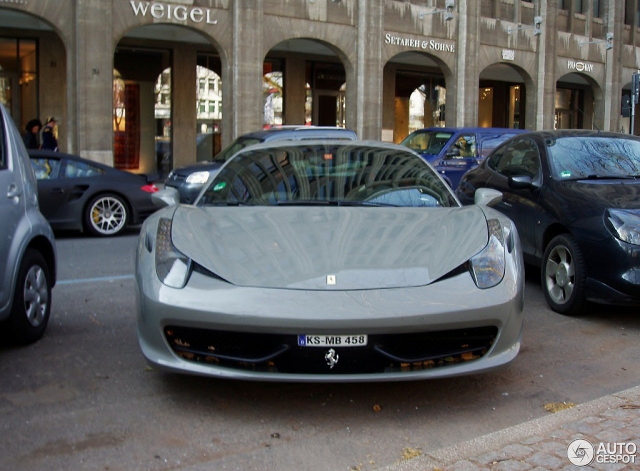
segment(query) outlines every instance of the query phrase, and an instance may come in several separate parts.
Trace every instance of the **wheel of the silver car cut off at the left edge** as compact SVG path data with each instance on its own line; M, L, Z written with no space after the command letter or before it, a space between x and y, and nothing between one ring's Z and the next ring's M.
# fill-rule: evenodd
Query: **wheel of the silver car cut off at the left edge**
M13 293L8 340L33 343L42 337L51 313L51 272L44 256L35 249L24 252Z

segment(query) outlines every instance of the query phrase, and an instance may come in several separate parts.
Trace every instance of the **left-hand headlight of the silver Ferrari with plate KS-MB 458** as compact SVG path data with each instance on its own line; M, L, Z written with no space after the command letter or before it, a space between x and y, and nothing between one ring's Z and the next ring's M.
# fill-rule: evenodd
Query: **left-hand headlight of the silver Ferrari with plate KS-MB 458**
M191 259L180 253L171 241L172 220L162 218L156 233L156 274L172 288L184 288L191 274Z

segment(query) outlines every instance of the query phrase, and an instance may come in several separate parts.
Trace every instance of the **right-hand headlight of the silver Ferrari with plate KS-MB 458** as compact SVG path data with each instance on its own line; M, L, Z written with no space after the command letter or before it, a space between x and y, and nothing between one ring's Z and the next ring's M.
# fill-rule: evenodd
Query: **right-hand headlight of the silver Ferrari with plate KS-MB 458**
M498 219L486 222L489 229L489 242L483 251L469 260L471 276L481 290L492 288L504 277L505 257L504 233Z

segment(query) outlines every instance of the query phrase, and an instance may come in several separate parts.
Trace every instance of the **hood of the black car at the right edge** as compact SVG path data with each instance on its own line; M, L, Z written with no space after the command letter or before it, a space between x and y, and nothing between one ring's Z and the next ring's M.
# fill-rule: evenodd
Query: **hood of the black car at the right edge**
M574 180L565 181L578 206L589 213L602 213L605 208L640 208L640 181L637 180Z

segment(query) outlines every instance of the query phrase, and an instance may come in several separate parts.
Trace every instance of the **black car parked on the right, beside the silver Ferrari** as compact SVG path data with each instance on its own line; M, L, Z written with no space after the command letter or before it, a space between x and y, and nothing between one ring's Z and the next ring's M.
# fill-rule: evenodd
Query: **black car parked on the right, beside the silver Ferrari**
M526 262L541 267L547 302L640 304L640 139L598 131L522 134L465 174L456 190L504 194Z

